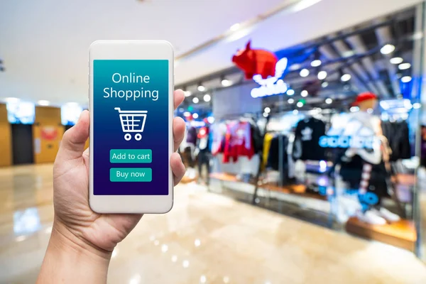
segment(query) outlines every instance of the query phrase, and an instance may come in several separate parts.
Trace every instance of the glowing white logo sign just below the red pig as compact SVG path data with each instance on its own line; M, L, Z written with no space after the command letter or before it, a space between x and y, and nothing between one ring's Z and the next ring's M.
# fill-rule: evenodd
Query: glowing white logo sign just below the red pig
M285 84L283 80L280 80L280 77L283 77L285 69L287 69L287 63L287 58L278 60L277 64L275 65L275 76L273 77L263 79L260 74L254 75L254 82L261 85L261 87L253 88L251 90L251 97L268 97L274 94L283 94L287 92L287 84Z

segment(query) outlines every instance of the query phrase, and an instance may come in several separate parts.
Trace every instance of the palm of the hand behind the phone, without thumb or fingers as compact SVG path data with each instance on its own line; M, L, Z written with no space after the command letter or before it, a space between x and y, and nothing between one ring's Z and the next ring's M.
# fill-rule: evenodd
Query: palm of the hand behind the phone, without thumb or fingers
M140 214L97 214L89 207L89 156L55 164L53 170L54 203L57 217L72 234L94 246L111 251L141 219ZM108 236L107 238L105 236Z

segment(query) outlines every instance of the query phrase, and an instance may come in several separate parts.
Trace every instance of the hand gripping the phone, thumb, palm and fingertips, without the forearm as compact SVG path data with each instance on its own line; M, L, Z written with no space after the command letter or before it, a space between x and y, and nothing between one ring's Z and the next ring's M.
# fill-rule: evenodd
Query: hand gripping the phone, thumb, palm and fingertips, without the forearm
M175 91L175 108L185 98L182 90ZM53 203L55 221L53 231L79 246L108 257L138 224L142 214L98 214L89 207L89 149L84 143L89 138L89 111L83 111L75 126L65 132L53 167ZM175 150L182 142L185 122L173 120ZM174 184L185 174L180 155L170 158Z

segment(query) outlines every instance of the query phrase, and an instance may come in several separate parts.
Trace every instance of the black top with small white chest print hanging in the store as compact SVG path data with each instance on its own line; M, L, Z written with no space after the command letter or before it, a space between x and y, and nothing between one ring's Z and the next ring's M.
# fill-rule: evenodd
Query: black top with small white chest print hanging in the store
M325 149L320 146L325 127L324 121L313 117L297 123L293 147L295 160L325 160Z

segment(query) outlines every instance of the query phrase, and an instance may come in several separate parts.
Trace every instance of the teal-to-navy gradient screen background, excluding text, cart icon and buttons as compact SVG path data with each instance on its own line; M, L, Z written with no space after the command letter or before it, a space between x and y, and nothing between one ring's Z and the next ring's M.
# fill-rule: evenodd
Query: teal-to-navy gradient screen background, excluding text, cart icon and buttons
M113 82L119 73L149 76L149 83ZM114 80L119 78L114 76ZM158 99L104 97L105 88L114 90L158 90ZM168 195L169 187L169 61L94 60L93 61L93 188L94 195ZM126 141L119 111L148 111L141 141ZM110 163L111 149L151 149L151 163ZM111 182L111 168L152 168L151 182Z

